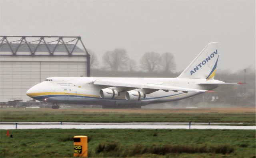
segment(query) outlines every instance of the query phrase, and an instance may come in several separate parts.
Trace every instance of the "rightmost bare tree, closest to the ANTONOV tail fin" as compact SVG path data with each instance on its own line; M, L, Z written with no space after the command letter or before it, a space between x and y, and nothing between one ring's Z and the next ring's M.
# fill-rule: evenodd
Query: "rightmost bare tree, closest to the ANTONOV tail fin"
M170 72L176 69L176 63L172 53L166 52L161 55L161 67L164 72Z

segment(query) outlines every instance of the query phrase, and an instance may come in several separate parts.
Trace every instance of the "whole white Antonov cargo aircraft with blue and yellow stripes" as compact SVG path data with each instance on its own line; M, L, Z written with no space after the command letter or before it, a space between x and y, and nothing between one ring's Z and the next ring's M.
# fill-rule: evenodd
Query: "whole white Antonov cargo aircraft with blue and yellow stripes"
M212 91L225 83L214 80L220 42L209 43L177 78L50 77L30 88L39 101L92 105L147 105L175 101Z

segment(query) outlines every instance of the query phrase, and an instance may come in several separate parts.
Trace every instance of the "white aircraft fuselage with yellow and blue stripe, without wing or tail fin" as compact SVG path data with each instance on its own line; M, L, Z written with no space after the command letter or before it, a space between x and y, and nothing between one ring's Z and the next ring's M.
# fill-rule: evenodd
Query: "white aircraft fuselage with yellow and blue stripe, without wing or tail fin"
M167 102L180 100L195 96L202 92L183 92L157 90L150 94L146 94L146 98L141 101L126 100L125 92L134 90L134 88L126 87L124 92L114 99L100 98L100 90L109 86L95 85L97 79L107 79L113 82L139 82L159 84L165 86L177 86L193 89L212 90L216 85L199 85L204 83L206 79L190 79L190 78L95 78L95 77L51 77L47 81L41 82L33 86L27 91L27 95L39 101L51 103L70 103L70 104L93 104L93 105L114 105L114 104L140 104L147 105L149 103ZM213 80L214 82L221 82Z

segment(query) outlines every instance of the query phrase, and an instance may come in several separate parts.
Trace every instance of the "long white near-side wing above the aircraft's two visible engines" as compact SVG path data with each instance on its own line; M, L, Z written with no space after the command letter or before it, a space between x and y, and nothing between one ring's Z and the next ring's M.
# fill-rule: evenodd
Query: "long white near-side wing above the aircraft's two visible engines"
M166 86L162 84L150 84L150 83L134 83L134 82L124 82L124 81L112 81L112 80L102 80L98 79L94 82L95 85L103 86L114 86L114 87L129 87L129 88L144 88L144 89L153 89L153 90L168 90L168 91L182 91L182 92L214 92L209 90L198 90L192 88L183 88L176 86Z

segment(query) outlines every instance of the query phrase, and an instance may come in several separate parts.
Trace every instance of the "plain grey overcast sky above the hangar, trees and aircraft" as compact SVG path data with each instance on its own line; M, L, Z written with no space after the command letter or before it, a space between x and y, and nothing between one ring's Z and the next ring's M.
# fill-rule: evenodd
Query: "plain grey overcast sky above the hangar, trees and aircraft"
M220 41L218 68L234 72L255 68L255 1L0 0L0 35L80 35L100 60L115 48L136 60L172 52L178 71Z

